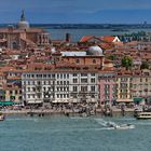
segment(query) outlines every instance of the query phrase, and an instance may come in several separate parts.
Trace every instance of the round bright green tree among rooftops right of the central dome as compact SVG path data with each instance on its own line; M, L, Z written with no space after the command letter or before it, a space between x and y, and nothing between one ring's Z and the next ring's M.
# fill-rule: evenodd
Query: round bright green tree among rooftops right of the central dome
M124 56L121 64L126 68L126 70L128 70L133 66L133 59L129 56Z

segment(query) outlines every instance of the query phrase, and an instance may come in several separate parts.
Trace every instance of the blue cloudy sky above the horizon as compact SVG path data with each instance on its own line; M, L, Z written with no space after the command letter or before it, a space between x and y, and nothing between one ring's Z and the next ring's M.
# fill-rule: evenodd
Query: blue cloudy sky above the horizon
M0 24L18 22L22 10L32 24L151 23L151 0L0 0Z

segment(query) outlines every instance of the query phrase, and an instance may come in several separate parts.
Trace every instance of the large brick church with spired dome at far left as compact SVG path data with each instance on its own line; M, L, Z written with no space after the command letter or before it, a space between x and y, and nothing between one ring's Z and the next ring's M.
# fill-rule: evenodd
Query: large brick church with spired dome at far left
M26 20L25 11L22 11L20 19L16 27L9 25L0 28L0 47L11 50L25 50L50 45L49 32L41 28L32 28Z

